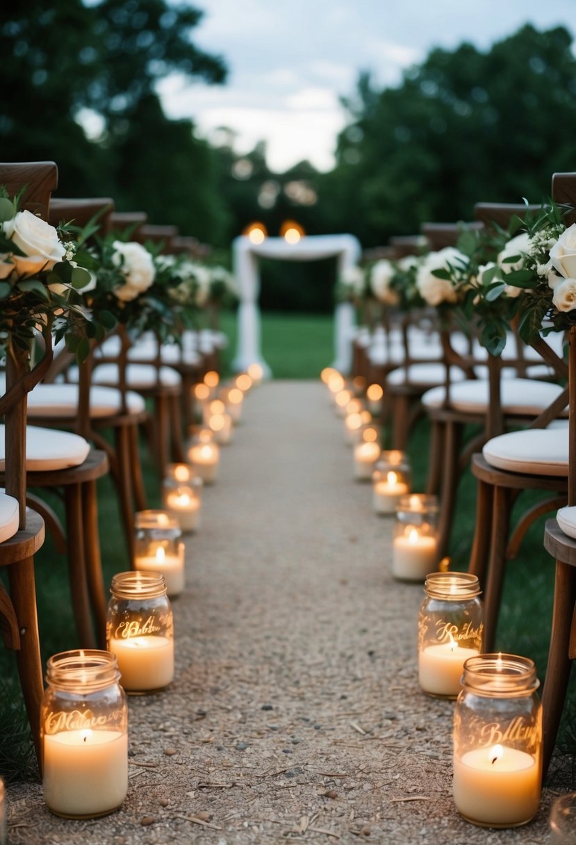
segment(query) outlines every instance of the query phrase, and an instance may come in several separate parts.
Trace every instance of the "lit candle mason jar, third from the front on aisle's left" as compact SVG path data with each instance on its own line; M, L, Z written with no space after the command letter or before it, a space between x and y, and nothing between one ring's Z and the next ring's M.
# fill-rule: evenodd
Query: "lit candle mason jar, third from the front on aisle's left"
M184 589L184 543L177 520L164 510L134 517L134 569L164 576L170 597Z

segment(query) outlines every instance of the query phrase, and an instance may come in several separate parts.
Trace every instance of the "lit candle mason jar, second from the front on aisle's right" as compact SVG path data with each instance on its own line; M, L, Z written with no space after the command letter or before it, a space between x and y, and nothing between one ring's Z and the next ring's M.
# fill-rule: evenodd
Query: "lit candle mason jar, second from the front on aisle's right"
M424 692L456 698L464 663L482 651L480 584L468 572L432 572L418 617L418 679Z

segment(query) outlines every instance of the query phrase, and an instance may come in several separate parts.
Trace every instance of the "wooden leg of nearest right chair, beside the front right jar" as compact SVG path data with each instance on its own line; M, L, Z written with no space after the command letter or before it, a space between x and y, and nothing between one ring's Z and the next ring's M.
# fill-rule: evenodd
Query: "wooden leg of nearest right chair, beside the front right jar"
M568 678L572 661L568 655L572 616L576 602L576 570L573 566L556 562L554 582L554 609L552 612L552 633L548 651L548 666L544 690L542 690L542 711L544 727L543 777L546 776L552 751L556 743L562 707L568 689Z

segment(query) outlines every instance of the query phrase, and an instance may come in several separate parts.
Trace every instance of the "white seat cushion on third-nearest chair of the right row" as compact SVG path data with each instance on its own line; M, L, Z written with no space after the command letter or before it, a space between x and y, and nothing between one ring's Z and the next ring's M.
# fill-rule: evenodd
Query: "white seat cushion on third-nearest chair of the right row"
M502 379L500 400L504 413L536 416L562 393L558 384L531 379ZM486 379L471 379L450 386L450 407L465 413L484 413L489 403ZM443 405L446 396L444 385L433 387L422 396L426 408Z

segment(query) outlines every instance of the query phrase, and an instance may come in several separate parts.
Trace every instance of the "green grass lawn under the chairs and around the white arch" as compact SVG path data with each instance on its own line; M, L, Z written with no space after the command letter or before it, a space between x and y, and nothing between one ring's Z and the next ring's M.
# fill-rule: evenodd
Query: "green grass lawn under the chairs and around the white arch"
M223 315L222 329L229 336L223 355L224 373L236 353L236 319ZM263 314L262 352L275 378L318 379L321 369L334 356L333 321L330 316L308 314ZM421 490L427 472L428 427L425 420L416 426L410 439L414 488ZM144 477L149 506L160 504L160 485L148 450L143 450ZM128 569L128 555L118 519L117 499L110 478L99 482L99 519L105 583L111 575ZM465 570L475 528L475 479L466 472L459 488L450 553L453 568ZM532 657L542 678L546 669L547 644L552 615L554 565L542 545L543 520L525 538L518 558L509 562L503 608L497 630L497 648ZM70 611L66 562L50 541L35 559L42 657L77 646ZM416 624L416 622L415 622ZM576 690L572 684L562 722L560 742L570 752L576 750L571 728L576 712ZM29 777L35 771L30 734L24 717L15 671L14 655L0 649L0 774Z

